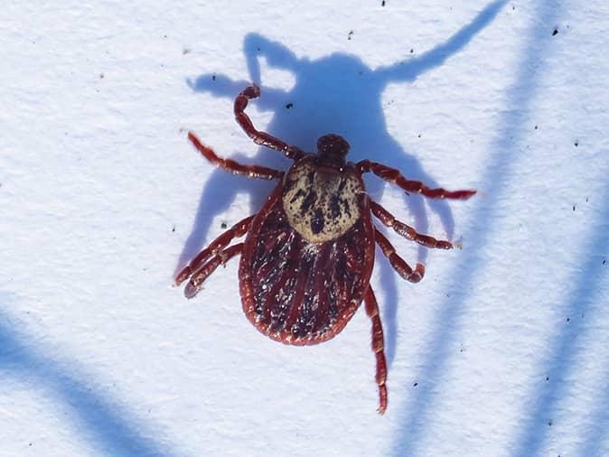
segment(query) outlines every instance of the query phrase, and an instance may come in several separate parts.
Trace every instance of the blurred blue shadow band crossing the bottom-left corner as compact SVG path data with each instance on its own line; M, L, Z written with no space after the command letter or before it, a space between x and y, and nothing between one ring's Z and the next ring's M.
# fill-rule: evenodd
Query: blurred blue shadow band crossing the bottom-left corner
M45 395L68 406L73 413L67 417L74 423L71 426L104 455L184 455L183 450L157 441L158 433L116 400L97 393L95 384L80 375L74 363L49 358L33 346L31 337L14 327L11 317L0 309L0 378L11 377L35 391L42 389Z

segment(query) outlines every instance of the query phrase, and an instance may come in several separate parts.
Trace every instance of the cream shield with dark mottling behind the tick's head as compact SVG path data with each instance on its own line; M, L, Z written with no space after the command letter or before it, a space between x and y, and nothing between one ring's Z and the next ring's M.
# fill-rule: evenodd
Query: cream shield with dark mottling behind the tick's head
M360 218L361 179L350 170L307 157L286 174L282 202L287 220L304 239L323 243L340 237Z

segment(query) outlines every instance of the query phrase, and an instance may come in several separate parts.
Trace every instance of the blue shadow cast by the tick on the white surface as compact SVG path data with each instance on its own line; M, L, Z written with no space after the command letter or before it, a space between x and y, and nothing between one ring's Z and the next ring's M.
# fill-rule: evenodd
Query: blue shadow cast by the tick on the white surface
M381 95L390 83L412 83L426 71L437 69L445 61L470 42L477 33L492 22L507 0L494 1L474 17L471 23L454 33L448 40L437 44L431 51L420 56L408 56L388 66L370 69L357 56L335 52L318 60L299 58L293 51L279 42L273 42L258 33L248 33L244 40L244 53L248 64L249 79L261 87L261 96L252 102L258 110L272 111L275 116L267 126L258 126L286 143L297 145L305 151L314 152L317 138L334 133L344 136L351 144L349 160L357 162L370 159L388 163L400 169L409 179L426 182L439 187L435 177L427 173L413 154L405 151L389 135L381 104ZM405 51L405 55L407 52ZM261 81L260 59L269 67L287 70L295 77L295 84L289 90L269 88ZM248 80L235 81L224 75L203 74L188 84L197 92L210 92L216 97L234 98L240 90L250 84ZM256 115L253 107L249 114ZM232 116L227 110L226 116ZM245 134L244 134L245 135ZM202 138L204 142L204 137ZM230 154L219 151L219 154ZM248 163L260 163L285 170L290 164L281 154L261 148ZM204 166L204 165L203 165ZM238 183L238 180L241 182ZM192 232L179 259L179 269L195 256L203 241L211 238L211 219L230 207L238 192L248 192L256 196L252 201L250 214L259 209L260 202L271 190L272 184L255 180L230 177L221 170L215 171L205 184L197 210ZM367 179L370 195L379 200L384 183L379 179ZM441 220L447 238L453 238L454 219L445 201L424 202L418 195L405 197L415 228L428 232L426 204ZM399 219L404 218L399 212ZM239 215L242 217L247 214ZM236 220L231 220L234 223ZM408 222L408 220L407 220ZM212 230L213 235L218 230ZM436 234L444 238L443 234ZM399 250L399 246L397 246ZM396 275L389 263L380 258L381 286L385 292L383 318L385 322L386 354L389 364L394 359L397 331L398 288ZM410 259L411 263L414 259ZM417 260L425 262L426 248L419 247Z

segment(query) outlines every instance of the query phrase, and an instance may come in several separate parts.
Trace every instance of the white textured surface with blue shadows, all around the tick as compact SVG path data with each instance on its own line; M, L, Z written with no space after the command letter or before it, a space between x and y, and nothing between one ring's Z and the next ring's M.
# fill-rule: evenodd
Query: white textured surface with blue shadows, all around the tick
M4 5L0 456L609 455L609 8L466 4ZM171 287L272 187L214 171L186 131L288 165L232 119L251 79L248 113L290 143L333 132L352 160L480 190L425 206L367 178L464 241L389 234L427 270L373 275L383 417L363 310L294 348L249 325L236 262L193 301Z

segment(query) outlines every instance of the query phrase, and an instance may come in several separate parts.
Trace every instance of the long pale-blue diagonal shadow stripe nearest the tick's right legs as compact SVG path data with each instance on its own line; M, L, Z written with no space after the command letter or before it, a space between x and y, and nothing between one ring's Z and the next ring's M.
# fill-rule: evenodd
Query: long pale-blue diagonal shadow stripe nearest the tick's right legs
M487 198L476 201L472 220L475 227L464 229L464 234L470 240L464 255L454 267L456 278L447 284L450 298L443 302L442 312L436 318L434 330L431 332L428 355L423 362L423 370L417 378L440 379L442 371L449 359L448 349L459 331L458 312L467 303L465 291L473 288L474 280L483 268L480 262L481 253L489 246L495 220L498 217L497 203L510 189L512 170L519 159L520 132L525 131L524 124L531 109L531 100L539 89L539 74L543 70L543 58L548 53L551 35L547 28L539 27L540 23L556 23L561 12L561 5L554 0L539 2L535 7L529 33L521 49L525 50L515 72L514 83L506 93L505 115L501 117L497 140L492 147L494 153L486 161L488 166L483 173L481 182L485 186ZM482 221L482 224L476 224ZM445 294L443 294L445 295ZM426 419L433 412L435 393L433 387L419 386L416 396L405 406L404 418L396 434L392 455L404 457L421 454L419 443L425 436Z

